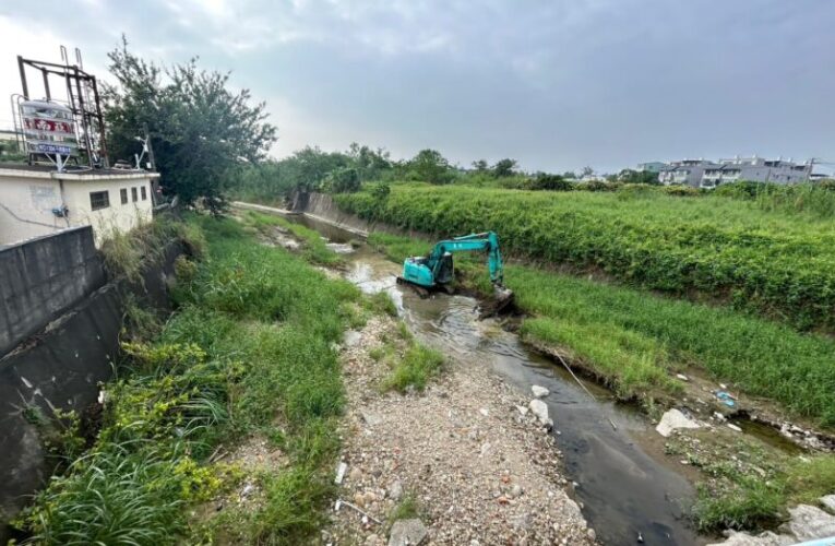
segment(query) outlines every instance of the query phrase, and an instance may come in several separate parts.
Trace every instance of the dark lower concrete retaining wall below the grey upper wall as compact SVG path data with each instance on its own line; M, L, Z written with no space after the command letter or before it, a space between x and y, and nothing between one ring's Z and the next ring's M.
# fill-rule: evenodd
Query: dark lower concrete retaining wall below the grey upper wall
M10 536L5 523L45 485L52 471L43 447L43 425L33 415L51 416L53 408L60 408L91 417L100 411L99 384L112 377L118 363L127 298L160 316L170 312L168 288L174 262L183 251L180 242L171 242L163 260L145 269L141 283L117 280L93 289L0 358L0 544ZM49 252L37 256L40 258L35 261L51 262L53 257ZM99 259L90 258L94 260ZM77 259L76 263L86 261ZM43 263L28 265L49 269ZM95 286L81 274L63 283L75 284L75 293ZM27 288L37 292L39 286L33 283ZM19 297L38 300L43 296Z

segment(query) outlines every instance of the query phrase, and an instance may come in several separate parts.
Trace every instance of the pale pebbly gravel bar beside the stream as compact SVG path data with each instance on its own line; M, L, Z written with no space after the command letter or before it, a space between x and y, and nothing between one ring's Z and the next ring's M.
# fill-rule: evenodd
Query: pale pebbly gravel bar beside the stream
M347 463L323 542L386 544L391 518L407 499L427 529L422 544L593 544L563 489L553 437L521 395L486 366L451 360L424 393L382 393L387 366L369 351L397 336L390 318L349 335L342 353L348 394Z

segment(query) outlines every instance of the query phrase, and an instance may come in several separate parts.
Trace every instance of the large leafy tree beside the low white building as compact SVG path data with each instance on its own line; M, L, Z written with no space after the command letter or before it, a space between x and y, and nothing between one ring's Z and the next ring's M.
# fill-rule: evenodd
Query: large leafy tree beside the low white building
M201 70L196 59L163 69L131 54L124 38L108 58L117 82L103 93L111 157L132 157L146 126L164 192L223 211L232 174L275 142L265 104L250 105L248 90L229 90L228 73Z

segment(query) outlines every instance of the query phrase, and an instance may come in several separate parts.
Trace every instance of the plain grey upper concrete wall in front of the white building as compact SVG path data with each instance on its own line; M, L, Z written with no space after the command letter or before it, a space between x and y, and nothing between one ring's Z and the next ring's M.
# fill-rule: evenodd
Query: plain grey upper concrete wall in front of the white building
M93 228L0 250L0 356L105 284Z

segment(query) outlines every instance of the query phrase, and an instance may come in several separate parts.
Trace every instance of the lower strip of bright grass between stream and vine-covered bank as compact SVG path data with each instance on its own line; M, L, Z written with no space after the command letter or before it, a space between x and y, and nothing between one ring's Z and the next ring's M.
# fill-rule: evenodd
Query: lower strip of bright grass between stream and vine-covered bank
M429 245L372 234L395 261ZM480 262L458 260L467 283L488 292ZM802 334L727 307L653 296L533 266L509 265L505 284L528 313L522 335L559 347L623 397L677 392L670 371L689 367L779 402L795 415L835 426L835 341Z

